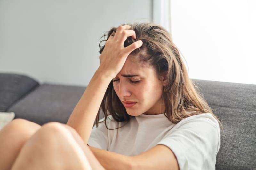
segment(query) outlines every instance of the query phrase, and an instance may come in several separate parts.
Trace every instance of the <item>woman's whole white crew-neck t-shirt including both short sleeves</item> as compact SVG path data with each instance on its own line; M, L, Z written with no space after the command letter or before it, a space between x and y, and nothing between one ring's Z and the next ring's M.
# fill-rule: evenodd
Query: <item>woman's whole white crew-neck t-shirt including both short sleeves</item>
M109 129L113 129L127 122L116 122L108 116L106 123ZM220 149L220 127L210 113L190 116L176 125L164 114L142 114L115 130L108 130L104 122L99 123L97 128L92 128L88 141L92 147L126 156L138 155L157 144L172 150L180 170L215 169Z

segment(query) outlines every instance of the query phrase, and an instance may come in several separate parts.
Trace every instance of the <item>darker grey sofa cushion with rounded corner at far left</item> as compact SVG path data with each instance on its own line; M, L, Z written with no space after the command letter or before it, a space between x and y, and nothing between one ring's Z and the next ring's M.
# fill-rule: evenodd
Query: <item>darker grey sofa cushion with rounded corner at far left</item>
M0 112L35 89L39 83L24 75L0 73Z

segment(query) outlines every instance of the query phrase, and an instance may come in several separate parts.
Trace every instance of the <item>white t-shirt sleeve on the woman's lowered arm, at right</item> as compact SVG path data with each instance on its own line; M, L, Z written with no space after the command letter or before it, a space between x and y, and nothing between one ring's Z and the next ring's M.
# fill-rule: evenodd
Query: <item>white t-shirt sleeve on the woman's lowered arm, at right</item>
M180 170L215 169L220 127L211 114L194 115L180 121L157 144L172 150Z

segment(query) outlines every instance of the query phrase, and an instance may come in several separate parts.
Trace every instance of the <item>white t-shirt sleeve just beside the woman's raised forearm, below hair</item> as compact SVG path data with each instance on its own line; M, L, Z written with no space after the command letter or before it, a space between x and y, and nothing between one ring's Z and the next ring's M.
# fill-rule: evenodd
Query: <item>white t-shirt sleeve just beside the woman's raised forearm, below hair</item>
M102 121L101 119L100 121ZM100 122L99 121L99 122ZM105 126L105 122L101 122L93 126L91 135L87 142L89 146L107 150L108 149L108 129Z

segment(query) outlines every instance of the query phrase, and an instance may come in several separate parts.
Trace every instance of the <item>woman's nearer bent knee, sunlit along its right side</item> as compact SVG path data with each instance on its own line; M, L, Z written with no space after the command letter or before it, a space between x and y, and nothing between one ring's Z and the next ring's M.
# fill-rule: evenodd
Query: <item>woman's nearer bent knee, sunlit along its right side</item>
M24 157L27 158L26 160L33 160L30 162L40 161L42 165L45 163L48 166L54 165L55 169L85 169L84 161L87 160L81 148L72 138L71 132L64 124L58 122L44 124L24 144L20 158ZM56 164L56 160L60 164ZM20 162L24 162L24 159Z

